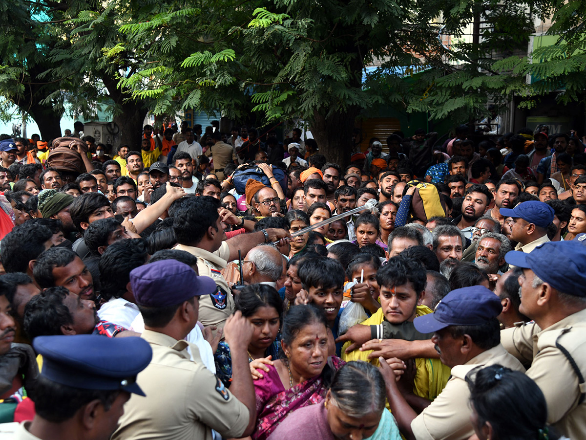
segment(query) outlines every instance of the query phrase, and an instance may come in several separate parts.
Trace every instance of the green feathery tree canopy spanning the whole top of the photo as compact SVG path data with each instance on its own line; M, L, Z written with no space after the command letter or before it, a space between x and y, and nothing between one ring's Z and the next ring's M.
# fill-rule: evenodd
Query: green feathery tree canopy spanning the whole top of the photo
M43 90L29 101L41 96L56 112L67 100L90 114L109 98L121 124L147 110L301 117L322 151L343 162L356 116L381 105L457 123L513 94L527 107L561 86L560 100L582 99L582 3L16 0L0 8L21 29L0 44L0 87L23 110L35 82ZM563 39L527 56L534 18L550 16L550 32ZM417 80L406 82L411 75Z

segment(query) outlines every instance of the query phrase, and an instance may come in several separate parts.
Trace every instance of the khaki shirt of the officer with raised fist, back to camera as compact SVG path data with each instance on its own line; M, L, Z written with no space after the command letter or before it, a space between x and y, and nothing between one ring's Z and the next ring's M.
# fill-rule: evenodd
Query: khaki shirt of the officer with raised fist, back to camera
M137 377L147 397L132 394L112 440L212 440L212 429L224 438L243 434L248 408L207 370L196 346L151 330L141 337L152 348Z

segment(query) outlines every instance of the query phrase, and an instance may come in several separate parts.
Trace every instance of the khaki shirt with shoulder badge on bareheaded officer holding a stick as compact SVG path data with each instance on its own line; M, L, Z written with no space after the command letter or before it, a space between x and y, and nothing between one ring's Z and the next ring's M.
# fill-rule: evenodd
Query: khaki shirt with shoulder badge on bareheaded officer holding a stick
M228 282L220 273L220 270L226 268L230 257L228 243L222 242L222 246L216 252L207 252L202 248L195 246L176 245L173 249L189 252L197 257L197 269L199 275L212 277L219 287L213 295L204 295L199 297L199 321L204 326L223 327L226 319L234 313L234 299L228 286Z

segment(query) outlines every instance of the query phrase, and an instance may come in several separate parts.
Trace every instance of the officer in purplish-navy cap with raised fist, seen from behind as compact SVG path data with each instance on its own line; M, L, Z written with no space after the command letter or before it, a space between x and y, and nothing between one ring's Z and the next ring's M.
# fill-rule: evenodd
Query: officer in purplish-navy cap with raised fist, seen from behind
M203 365L197 347L183 340L197 324L200 297L216 290L214 280L176 260L160 260L132 270L130 283L144 318L142 339L153 351L137 378L149 397L124 405L112 439L212 440L212 429L224 438L250 435L256 421L246 351L252 324L237 312L224 326L232 354L228 391Z

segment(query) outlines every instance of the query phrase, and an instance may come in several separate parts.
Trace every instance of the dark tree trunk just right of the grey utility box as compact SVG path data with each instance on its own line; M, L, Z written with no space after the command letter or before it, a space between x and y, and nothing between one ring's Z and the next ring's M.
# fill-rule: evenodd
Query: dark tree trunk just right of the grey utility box
M130 100L130 94L118 89L118 80L114 77L104 73L102 79L111 99L121 109L114 116L114 122L120 127L120 144L129 145L131 151L140 151L142 122L147 116L148 107L142 101Z

